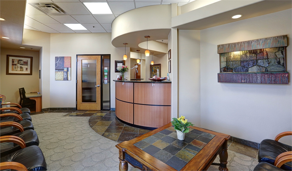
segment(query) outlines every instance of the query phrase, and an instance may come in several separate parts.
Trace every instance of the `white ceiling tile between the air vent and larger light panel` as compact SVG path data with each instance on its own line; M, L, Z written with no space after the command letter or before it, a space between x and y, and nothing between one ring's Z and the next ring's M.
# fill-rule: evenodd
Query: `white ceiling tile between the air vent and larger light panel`
M56 4L70 15L90 14L81 2L59 2Z

